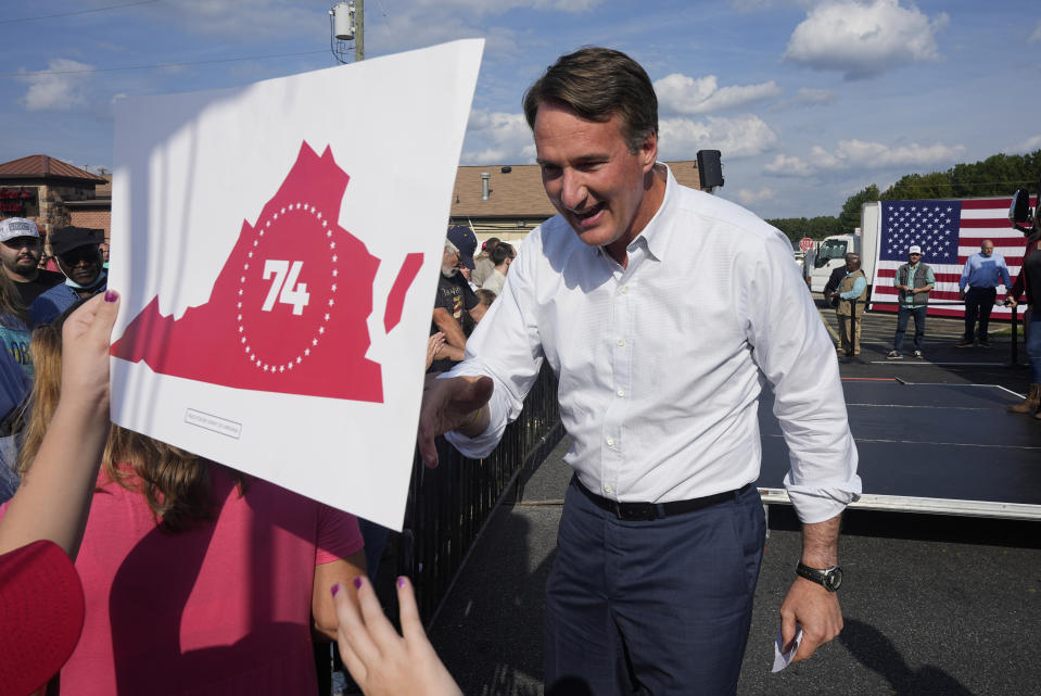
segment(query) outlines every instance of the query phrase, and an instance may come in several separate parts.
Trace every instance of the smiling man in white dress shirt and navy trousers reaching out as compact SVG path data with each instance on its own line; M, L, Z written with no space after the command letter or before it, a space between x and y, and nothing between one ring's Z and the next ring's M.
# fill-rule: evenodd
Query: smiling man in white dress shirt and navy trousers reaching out
M442 432L486 456L544 360L558 377L575 474L546 586L547 694L736 692L765 534L764 383L803 522L783 637L798 622L805 659L842 625L839 515L861 484L831 342L788 240L658 162L657 103L608 49L564 55L532 86L559 215L524 241L420 416L429 465Z

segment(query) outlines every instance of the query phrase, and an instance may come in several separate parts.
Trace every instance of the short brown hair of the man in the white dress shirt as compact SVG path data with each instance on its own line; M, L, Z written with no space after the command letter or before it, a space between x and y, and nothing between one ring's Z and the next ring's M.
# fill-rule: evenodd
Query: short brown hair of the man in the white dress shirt
M622 137L633 153L647 136L658 134L655 86L639 63L621 51L591 47L557 59L524 93L524 117L532 129L544 102L599 123L618 114Z

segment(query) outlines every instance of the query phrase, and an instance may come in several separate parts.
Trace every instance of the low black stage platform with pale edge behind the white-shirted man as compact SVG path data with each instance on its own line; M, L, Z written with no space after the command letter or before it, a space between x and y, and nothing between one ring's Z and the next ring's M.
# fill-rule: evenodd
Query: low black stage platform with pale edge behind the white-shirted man
M990 384L843 379L863 496L851 507L1041 519L1041 422L1006 413L1021 396ZM788 447L764 395L764 503L788 503Z

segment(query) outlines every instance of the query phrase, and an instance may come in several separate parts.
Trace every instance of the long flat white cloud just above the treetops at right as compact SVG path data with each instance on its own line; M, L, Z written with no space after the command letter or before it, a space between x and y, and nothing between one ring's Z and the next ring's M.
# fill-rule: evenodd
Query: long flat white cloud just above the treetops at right
M808 177L826 172L848 169L885 169L890 167L922 167L949 164L965 154L963 145L937 142L921 145L916 142L886 145L863 140L842 140L834 151L813 145L808 157L779 154L763 167L775 176Z

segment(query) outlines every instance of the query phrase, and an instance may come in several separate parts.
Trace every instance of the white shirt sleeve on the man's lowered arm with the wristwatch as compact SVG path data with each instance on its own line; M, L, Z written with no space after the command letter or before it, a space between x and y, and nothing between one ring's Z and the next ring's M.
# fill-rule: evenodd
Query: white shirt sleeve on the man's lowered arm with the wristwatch
M778 232L747 266L752 357L774 392L790 456L784 484L803 523L839 515L861 494L835 349Z

